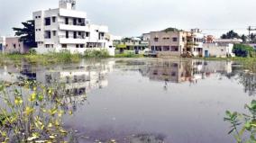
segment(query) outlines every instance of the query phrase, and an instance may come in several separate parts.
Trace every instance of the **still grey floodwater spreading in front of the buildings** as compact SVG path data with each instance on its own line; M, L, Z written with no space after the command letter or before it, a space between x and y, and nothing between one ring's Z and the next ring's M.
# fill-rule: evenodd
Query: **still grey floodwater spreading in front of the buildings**
M67 84L76 95L69 97L74 114L65 117L65 127L86 143L232 143L224 112L244 112L256 89L256 78L244 76L232 61L109 58L48 67L22 62L0 67L0 75L10 82Z

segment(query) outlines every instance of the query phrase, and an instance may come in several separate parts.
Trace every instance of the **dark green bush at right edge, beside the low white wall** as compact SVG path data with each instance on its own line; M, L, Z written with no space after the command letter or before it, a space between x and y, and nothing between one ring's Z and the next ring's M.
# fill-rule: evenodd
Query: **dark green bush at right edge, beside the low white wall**
M244 44L233 45L233 53L237 57L243 57L243 58L254 57L255 56L254 52L255 51L251 46L244 45Z

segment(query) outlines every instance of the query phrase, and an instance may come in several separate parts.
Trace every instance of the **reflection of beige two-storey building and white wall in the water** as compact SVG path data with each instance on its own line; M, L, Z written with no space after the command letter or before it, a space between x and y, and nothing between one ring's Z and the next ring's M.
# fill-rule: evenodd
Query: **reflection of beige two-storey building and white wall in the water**
M142 76L149 76L151 80L173 83L197 82L211 74L232 73L232 62L223 61L158 61L148 67L140 69Z

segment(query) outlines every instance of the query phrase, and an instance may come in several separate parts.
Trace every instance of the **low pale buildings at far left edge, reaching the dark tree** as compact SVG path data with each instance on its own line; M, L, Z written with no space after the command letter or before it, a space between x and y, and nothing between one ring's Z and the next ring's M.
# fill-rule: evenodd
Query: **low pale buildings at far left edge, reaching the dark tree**
M29 47L20 41L20 37L1 37L0 51L2 53L28 53Z

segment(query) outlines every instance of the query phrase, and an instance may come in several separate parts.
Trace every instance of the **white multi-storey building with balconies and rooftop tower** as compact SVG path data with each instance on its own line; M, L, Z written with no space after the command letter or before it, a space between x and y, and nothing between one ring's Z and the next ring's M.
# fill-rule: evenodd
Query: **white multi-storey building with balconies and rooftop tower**
M76 10L76 0L59 0L59 8L34 12L33 19L39 53L107 49L114 55L108 27L89 23L87 13Z

